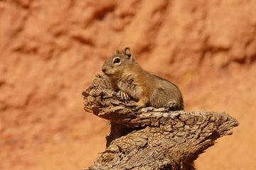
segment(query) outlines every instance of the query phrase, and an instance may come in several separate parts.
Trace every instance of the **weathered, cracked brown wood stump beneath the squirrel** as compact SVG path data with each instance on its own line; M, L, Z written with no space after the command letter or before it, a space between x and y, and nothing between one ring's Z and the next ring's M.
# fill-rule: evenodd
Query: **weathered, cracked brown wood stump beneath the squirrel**
M238 126L226 113L152 107L134 111L100 74L82 95L85 111L111 125L107 149L88 169L194 169L199 154Z

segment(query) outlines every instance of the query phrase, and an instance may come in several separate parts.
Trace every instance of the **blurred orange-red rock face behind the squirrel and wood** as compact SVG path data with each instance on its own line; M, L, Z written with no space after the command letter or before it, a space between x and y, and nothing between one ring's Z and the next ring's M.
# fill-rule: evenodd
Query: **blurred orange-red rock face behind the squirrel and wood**
M105 148L105 120L81 92L115 50L176 83L186 110L225 111L234 134L200 169L256 167L255 0L1 0L0 169L84 169Z

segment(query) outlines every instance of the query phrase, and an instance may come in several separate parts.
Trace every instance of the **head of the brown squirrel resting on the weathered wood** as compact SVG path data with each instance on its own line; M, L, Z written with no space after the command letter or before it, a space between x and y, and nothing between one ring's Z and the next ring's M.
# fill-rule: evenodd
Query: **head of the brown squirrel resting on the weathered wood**
M102 72L112 79L119 79L127 67L134 64L134 56L129 47L124 48L122 52L117 52L114 56L108 58L102 66Z

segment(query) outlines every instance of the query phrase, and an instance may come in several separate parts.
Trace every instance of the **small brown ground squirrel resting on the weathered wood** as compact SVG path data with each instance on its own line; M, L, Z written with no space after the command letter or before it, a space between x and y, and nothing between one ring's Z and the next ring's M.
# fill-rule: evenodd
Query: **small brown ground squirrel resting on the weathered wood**
M169 108L172 111L183 110L183 98L178 87L170 81L146 72L135 61L129 47L105 61L102 72L110 78L115 91L119 91L122 100L134 98L137 103L126 106L144 108Z

